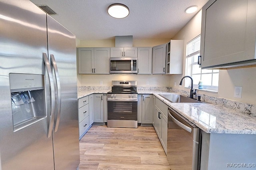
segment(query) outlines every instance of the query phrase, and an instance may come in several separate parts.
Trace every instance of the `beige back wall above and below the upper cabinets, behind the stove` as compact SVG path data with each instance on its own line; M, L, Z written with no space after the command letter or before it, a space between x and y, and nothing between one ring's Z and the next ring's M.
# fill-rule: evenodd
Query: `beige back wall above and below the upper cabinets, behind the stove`
M157 40L133 40L134 47L153 47L169 42L169 39ZM115 40L83 40L77 42L76 47L114 47ZM138 86L169 87L170 75L133 75L133 74L114 74L114 75L77 75L78 86L111 86L112 80L136 80ZM102 85L100 85L102 81ZM149 81L149 85L147 85Z

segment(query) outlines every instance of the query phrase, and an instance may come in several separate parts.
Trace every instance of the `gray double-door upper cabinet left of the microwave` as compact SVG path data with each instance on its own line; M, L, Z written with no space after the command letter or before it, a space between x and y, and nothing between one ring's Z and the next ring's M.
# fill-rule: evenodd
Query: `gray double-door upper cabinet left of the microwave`
M109 74L110 48L78 48L79 74Z

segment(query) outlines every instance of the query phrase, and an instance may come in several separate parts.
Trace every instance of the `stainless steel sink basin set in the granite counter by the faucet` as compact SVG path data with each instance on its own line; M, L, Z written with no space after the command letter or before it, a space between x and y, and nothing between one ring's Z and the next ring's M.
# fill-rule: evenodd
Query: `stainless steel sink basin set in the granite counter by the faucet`
M172 103L203 103L202 101L198 101L196 99L191 99L189 97L183 95L176 95L176 94L168 94L168 95L160 95L164 97L164 99L172 102Z

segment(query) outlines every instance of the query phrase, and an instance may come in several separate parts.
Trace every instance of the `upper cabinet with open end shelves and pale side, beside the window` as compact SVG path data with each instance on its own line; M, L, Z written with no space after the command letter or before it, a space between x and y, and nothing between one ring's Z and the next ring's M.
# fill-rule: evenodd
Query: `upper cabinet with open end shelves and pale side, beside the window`
M184 40L170 40L166 48L166 74L182 74Z

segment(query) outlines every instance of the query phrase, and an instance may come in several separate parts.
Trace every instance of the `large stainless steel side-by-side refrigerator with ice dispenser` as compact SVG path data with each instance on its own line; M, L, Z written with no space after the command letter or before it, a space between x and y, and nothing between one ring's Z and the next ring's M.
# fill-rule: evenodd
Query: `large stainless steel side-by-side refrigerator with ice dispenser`
M0 170L80 162L75 36L29 0L0 0Z

